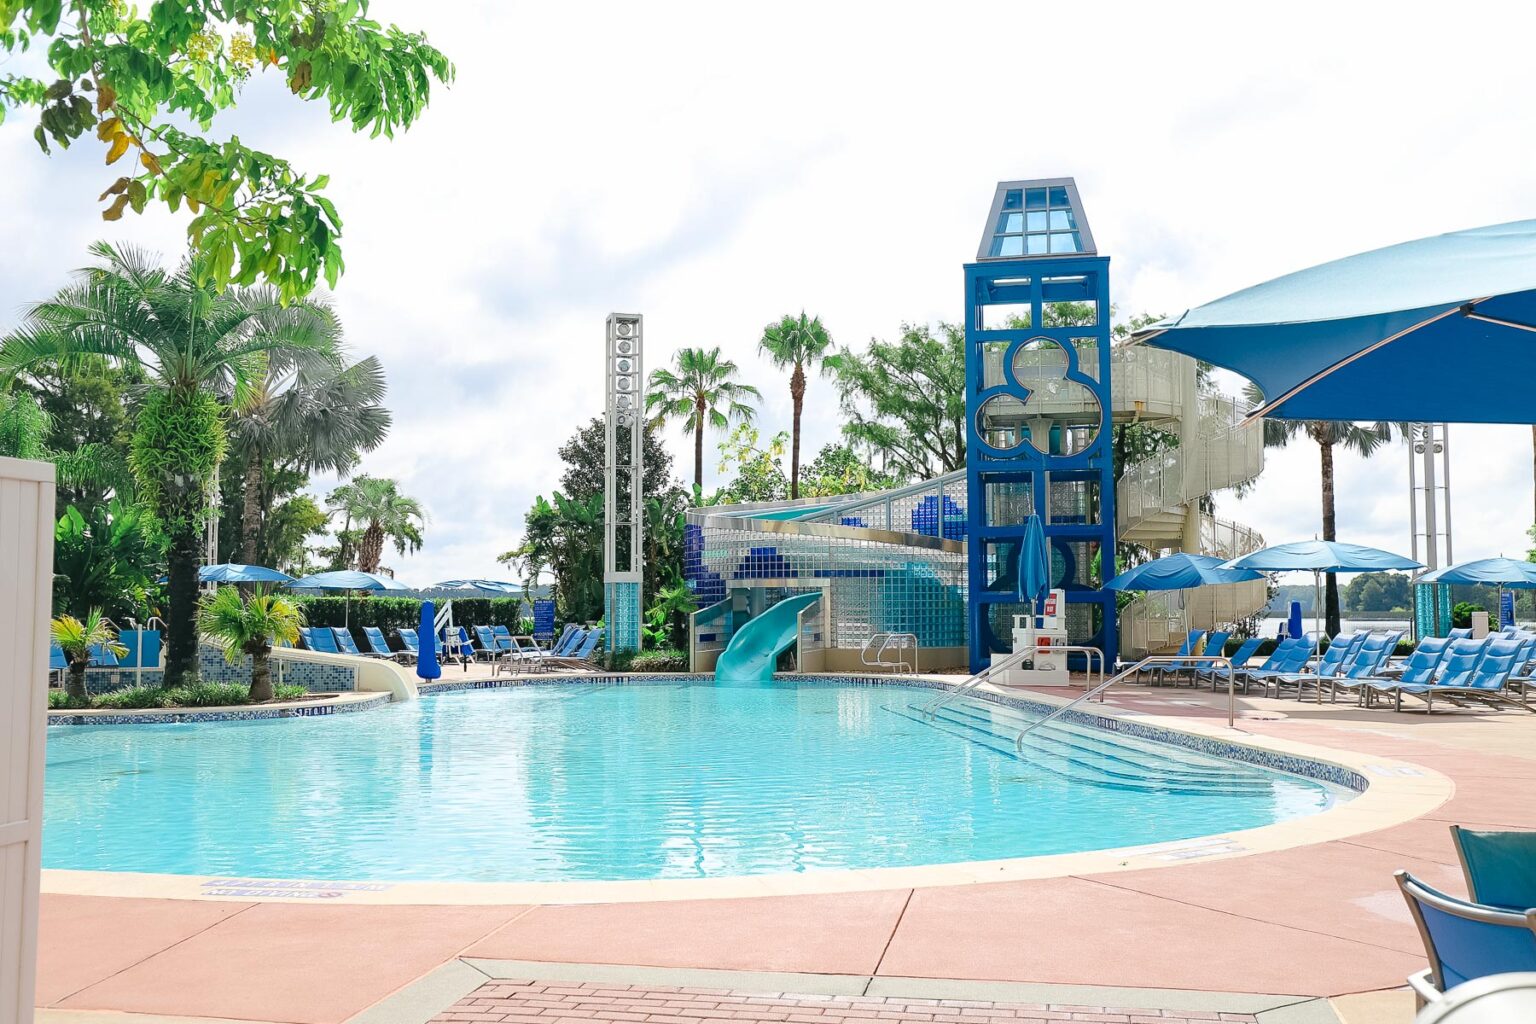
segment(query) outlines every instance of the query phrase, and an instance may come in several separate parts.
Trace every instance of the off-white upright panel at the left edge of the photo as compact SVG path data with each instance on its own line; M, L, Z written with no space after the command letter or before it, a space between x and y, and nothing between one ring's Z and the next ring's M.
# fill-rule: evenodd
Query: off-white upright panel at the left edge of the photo
M0 1024L31 1024L37 975L54 467L0 459Z

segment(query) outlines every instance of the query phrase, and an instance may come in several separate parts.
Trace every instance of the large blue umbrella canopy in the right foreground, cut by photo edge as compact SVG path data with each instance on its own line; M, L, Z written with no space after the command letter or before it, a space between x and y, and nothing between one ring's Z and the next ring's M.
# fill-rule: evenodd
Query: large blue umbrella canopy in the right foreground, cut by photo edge
M1536 221L1514 221L1298 270L1137 341L1241 373L1264 416L1528 424L1533 332Z

